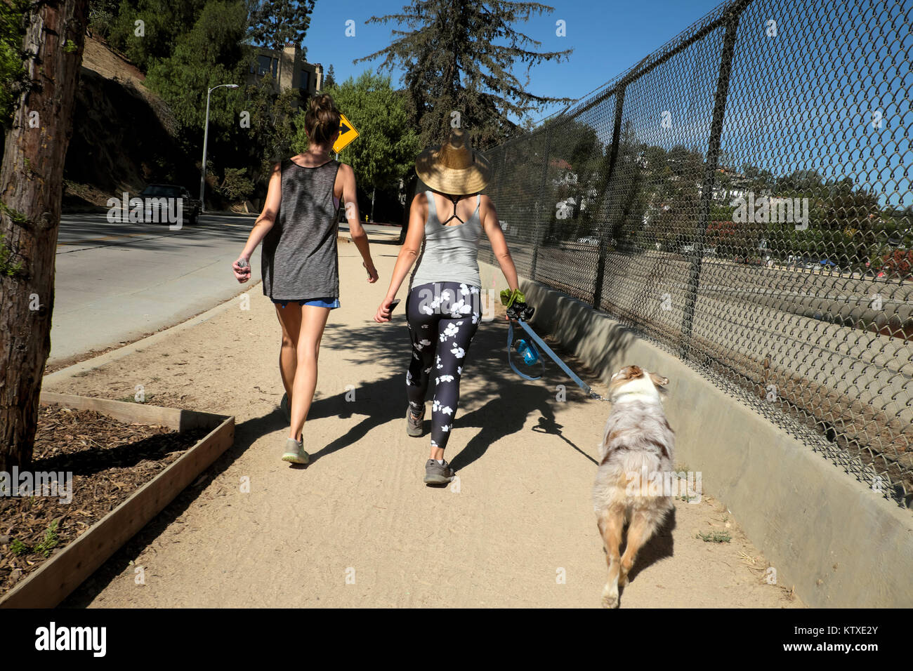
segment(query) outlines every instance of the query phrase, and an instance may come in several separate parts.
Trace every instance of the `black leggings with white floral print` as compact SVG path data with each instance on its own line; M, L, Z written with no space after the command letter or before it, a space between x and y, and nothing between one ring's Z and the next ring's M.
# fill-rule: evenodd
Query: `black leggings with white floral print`
M458 282L413 287L405 299L412 361L405 374L413 414L425 407L428 383L434 378L431 446L445 448L459 403L459 379L472 337L481 320L479 288Z

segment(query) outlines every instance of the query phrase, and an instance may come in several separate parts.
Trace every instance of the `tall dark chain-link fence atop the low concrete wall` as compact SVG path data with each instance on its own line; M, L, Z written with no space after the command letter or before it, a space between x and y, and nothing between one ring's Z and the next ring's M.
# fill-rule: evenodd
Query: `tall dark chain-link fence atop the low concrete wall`
M909 0L736 0L486 152L522 275L907 507L911 25Z

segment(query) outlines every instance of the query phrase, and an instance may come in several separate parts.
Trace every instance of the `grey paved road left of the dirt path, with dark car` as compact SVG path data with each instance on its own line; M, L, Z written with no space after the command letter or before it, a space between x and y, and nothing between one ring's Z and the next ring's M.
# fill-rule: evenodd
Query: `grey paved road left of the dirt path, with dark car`
M61 216L48 363L136 340L246 292L251 285L237 283L231 264L255 219L201 215L170 230L104 214ZM394 226L366 229L373 241L399 236ZM258 251L251 272L257 281Z

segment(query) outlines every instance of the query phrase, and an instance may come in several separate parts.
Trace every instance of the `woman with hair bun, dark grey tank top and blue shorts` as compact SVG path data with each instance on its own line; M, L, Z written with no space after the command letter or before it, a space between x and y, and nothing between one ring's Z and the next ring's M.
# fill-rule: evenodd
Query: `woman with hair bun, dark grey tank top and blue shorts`
M262 241L263 293L276 304L282 327L279 371L286 394L282 408L289 420L283 461L307 464L301 430L317 388L317 354L330 310L340 307L336 252L338 210L346 204L349 232L377 281L368 237L360 223L352 167L330 160L340 133L340 111L323 94L310 100L304 118L308 151L273 167L263 212L247 245L234 263L239 282L250 279L249 260Z

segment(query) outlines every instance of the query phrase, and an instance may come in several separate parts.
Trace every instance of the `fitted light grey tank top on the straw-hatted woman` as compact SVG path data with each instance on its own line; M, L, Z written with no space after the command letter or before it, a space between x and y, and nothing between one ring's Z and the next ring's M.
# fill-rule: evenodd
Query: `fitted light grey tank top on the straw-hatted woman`
M465 224L443 225L437 215L435 197L428 197L428 220L425 239L415 270L409 279L409 289L431 282L459 282L481 287L478 278L478 240L482 236L482 221L478 208L482 196L476 196L476 210Z

